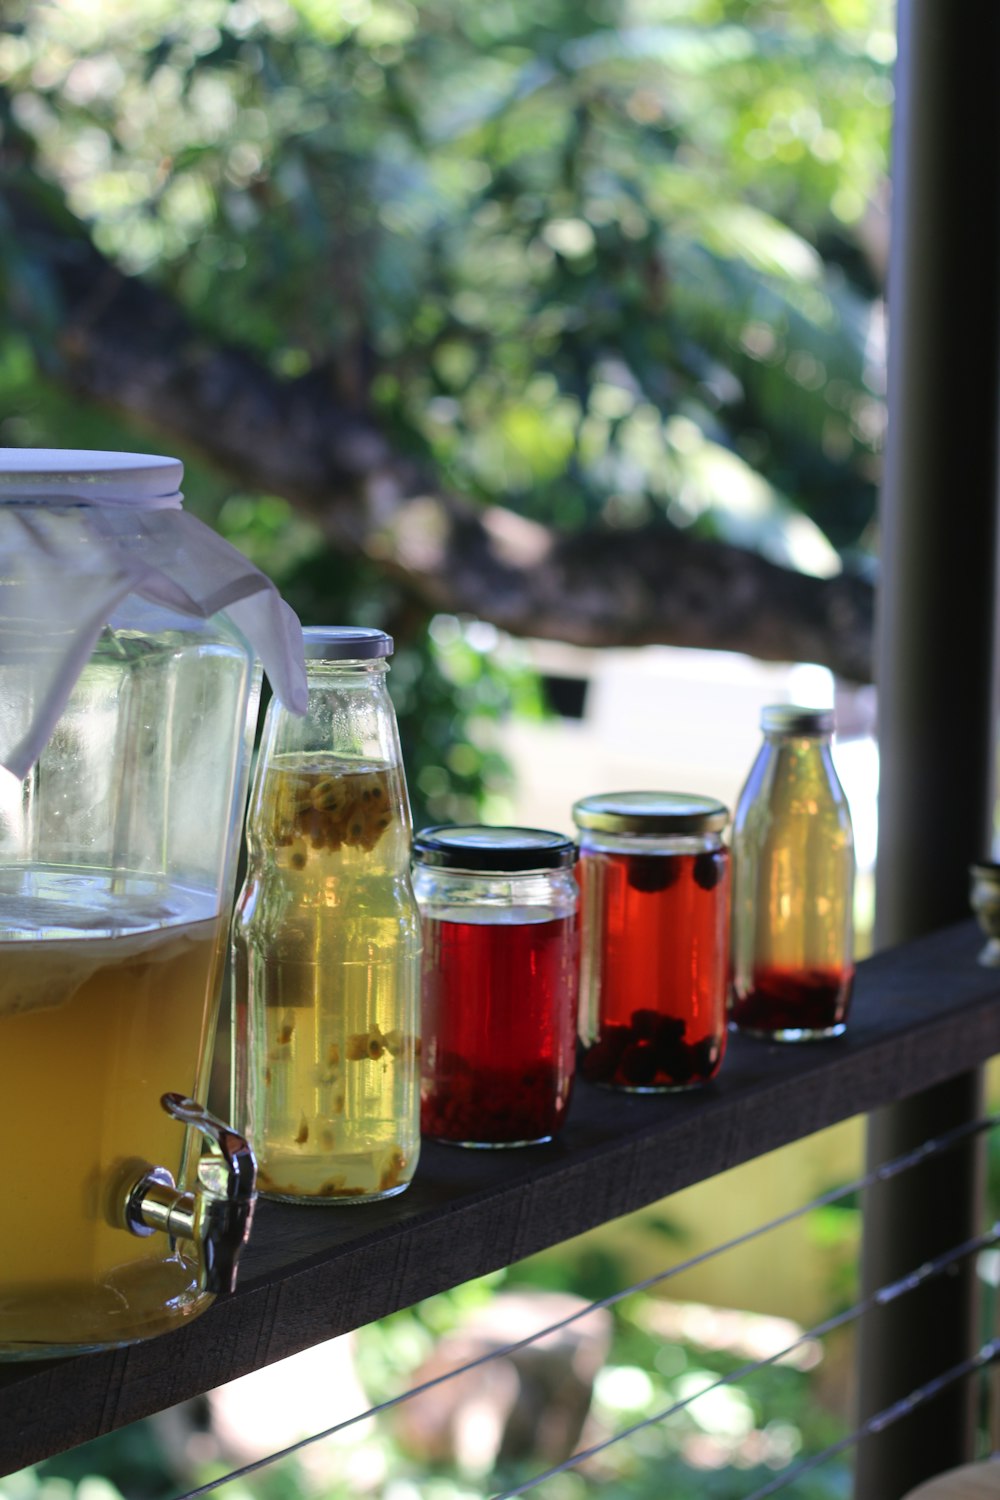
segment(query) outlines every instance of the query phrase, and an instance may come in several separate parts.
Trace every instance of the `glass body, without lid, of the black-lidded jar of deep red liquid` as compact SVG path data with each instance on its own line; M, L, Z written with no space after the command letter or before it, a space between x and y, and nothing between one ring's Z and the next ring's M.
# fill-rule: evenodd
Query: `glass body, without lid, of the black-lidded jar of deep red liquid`
M483 1148L552 1140L576 1065L573 872L417 864L414 888L424 933L424 1136Z

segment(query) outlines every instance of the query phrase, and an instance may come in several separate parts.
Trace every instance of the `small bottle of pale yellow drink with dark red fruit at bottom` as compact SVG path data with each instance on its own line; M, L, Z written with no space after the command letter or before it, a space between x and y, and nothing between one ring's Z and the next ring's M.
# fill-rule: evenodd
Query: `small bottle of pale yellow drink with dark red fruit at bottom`
M829 710L778 704L733 819L730 1020L772 1041L844 1030L855 978L855 840Z

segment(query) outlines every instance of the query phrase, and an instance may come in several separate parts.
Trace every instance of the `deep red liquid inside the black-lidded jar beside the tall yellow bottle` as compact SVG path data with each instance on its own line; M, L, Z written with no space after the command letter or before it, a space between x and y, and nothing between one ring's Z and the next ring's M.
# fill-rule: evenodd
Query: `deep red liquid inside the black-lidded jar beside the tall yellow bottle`
M436 1140L547 1140L570 1102L576 916L424 918L420 1125Z

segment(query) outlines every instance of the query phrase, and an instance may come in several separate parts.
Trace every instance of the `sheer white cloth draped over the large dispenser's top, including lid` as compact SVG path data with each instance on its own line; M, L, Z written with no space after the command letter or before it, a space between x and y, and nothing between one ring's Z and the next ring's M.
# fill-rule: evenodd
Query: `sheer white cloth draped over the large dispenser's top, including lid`
M181 508L178 459L0 448L0 666L31 668L25 720L3 728L18 778L42 753L97 636L129 594L175 615L225 609L292 712L307 705L298 616L274 585Z

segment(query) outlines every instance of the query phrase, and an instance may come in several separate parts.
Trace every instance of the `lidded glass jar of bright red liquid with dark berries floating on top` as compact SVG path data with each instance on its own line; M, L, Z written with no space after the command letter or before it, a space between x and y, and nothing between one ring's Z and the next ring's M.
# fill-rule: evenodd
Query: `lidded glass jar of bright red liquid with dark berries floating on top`
M574 804L583 1077L646 1094L712 1078L726 1048L729 810L684 792Z

